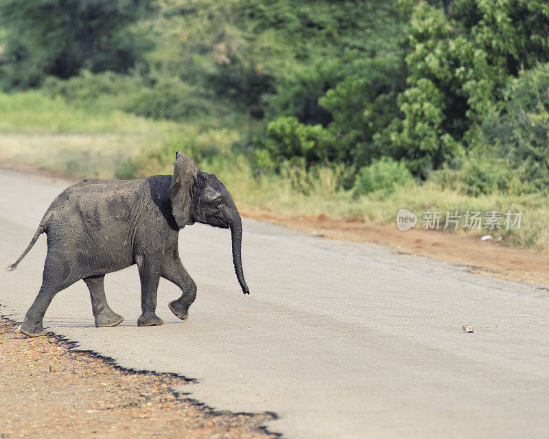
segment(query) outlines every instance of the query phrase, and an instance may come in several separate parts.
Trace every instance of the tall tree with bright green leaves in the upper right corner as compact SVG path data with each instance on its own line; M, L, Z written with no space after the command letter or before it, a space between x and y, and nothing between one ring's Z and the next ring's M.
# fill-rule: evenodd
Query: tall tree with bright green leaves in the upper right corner
M460 143L471 147L471 128L503 109L506 84L521 66L549 60L549 7L541 0L456 0L446 16L427 2L401 4L409 16L408 86L386 134L425 176Z

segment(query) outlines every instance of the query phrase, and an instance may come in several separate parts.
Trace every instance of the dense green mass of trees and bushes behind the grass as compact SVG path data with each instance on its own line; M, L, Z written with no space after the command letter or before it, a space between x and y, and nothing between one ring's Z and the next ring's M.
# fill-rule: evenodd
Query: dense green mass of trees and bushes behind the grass
M460 167L472 195L549 187L543 0L0 0L0 16L4 88L234 114L257 172L329 166L364 192Z

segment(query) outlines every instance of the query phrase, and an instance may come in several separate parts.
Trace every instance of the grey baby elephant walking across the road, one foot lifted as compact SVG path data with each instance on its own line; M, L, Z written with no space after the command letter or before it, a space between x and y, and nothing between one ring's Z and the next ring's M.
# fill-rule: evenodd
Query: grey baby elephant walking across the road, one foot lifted
M90 290L95 326L121 323L124 318L108 306L103 282L106 273L133 264L141 278L143 313L137 324L163 323L155 313L161 276L183 292L168 306L185 320L196 298L196 284L181 264L177 239L181 228L195 222L231 228L236 276L242 292L250 294L242 272L242 221L235 202L220 180L200 171L187 154L177 152L173 176L91 178L68 187L51 203L29 246L8 268L14 270L40 234L47 234L42 287L21 332L43 335L42 320L51 300L80 279Z

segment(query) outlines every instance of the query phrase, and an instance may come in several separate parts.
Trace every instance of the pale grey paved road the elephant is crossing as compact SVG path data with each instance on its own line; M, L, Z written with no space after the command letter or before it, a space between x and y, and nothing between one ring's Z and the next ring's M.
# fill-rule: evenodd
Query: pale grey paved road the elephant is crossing
M0 265L27 246L65 182L0 170ZM244 221L251 295L240 292L230 235L180 233L198 284L189 320L167 309L138 328L135 268L106 277L126 320L97 329L83 282L56 296L55 333L121 366L198 379L191 397L219 410L275 412L285 438L548 438L549 294L450 263ZM22 319L45 258L41 237L15 272L0 272L1 313ZM472 324L475 333L463 333Z

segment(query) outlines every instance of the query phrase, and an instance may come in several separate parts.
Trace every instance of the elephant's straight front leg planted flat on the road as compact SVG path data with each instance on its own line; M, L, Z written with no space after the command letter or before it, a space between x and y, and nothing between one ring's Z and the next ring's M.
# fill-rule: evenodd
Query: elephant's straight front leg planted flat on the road
M156 316L156 293L159 287L161 258L147 255L144 258L136 258L141 278L141 311L137 319L137 326L151 327L163 324L159 316Z

